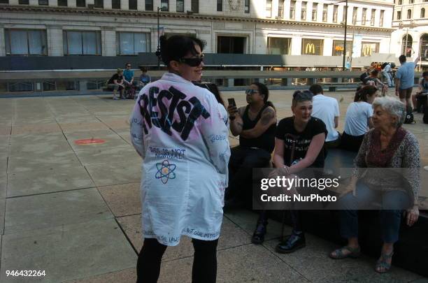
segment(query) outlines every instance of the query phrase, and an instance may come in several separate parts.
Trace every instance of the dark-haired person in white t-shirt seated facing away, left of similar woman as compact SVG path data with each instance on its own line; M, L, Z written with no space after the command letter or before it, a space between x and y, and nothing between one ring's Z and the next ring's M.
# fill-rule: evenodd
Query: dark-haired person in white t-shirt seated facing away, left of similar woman
M336 99L324 96L321 85L311 85L309 91L313 94L312 117L321 119L327 127L327 138L324 145L327 148L336 148L341 144L338 131L338 117L340 116Z

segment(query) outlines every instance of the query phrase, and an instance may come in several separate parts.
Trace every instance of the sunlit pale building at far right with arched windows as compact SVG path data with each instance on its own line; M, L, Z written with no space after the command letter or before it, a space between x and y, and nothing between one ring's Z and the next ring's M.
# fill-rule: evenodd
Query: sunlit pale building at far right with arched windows
M428 1L395 0L391 41L397 46L395 55L410 59L420 56L419 64L428 66Z

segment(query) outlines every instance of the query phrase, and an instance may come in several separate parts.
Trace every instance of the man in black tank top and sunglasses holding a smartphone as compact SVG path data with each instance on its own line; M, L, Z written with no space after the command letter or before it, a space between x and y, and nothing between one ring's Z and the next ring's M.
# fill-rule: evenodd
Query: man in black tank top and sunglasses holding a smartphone
M241 108L228 100L230 131L239 136L239 145L231 149L229 161L225 203L229 208L251 201L252 168L269 167L275 147L276 109L268 101L269 89L253 82L245 90L245 98L248 105Z

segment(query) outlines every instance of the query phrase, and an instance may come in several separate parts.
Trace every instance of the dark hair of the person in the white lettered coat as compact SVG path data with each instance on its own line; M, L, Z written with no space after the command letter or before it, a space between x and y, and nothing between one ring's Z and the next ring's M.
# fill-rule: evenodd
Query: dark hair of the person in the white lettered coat
M166 66L169 67L169 62L182 59L187 53L197 55L197 50L194 49L194 45L199 45L201 51L204 50L205 42L199 38L192 36L171 36L166 39L166 36L159 38L160 43L160 55L162 61Z

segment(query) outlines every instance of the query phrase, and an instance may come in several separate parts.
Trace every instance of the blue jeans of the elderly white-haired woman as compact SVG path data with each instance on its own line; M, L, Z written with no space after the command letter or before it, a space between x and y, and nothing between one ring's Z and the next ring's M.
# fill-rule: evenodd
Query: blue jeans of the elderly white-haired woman
M382 204L380 209L380 229L383 242L397 242L401 222L401 212L411 205L405 191L375 191L363 182L357 182L355 196L346 194L340 199L340 224L343 238L358 237L358 209L373 201Z

